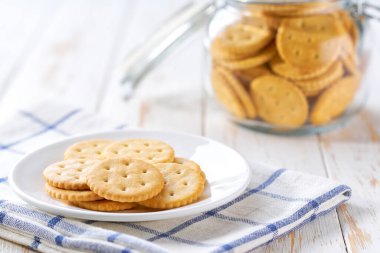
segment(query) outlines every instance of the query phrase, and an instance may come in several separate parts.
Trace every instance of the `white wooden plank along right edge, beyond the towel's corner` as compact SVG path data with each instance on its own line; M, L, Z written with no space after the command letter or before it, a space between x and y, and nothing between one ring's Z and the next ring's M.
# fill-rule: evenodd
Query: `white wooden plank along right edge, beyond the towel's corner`
M373 34L380 42L380 35ZM375 43L376 44L376 43ZM348 252L380 248L380 52L374 50L365 82L367 106L343 129L320 138L330 177L352 187L351 200L338 209Z

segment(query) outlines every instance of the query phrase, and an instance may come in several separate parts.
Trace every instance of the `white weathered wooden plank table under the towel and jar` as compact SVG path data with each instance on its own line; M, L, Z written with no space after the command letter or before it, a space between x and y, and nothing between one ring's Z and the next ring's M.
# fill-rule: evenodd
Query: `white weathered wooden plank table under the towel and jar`
M203 91L201 32L124 101L114 67L185 2L0 0L0 119L31 102L59 99L132 126L205 135L250 162L340 180L353 189L349 203L255 252L379 252L379 50L370 66L367 107L324 135L272 136L226 121ZM380 36L374 41L379 47ZM27 251L0 239L0 252Z

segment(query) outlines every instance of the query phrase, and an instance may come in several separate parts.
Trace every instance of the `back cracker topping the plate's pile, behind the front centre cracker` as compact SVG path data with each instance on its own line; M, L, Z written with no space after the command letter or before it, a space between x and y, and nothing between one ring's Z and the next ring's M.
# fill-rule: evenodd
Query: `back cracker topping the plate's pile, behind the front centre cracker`
M165 163L173 161L174 149L163 141L129 139L110 144L104 155L108 158L129 157L149 163Z

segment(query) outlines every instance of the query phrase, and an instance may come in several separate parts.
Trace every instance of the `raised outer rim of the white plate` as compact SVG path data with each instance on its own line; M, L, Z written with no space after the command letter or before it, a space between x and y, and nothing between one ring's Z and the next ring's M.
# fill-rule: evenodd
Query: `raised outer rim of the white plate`
M29 158L30 156L35 155L35 153L39 152L41 149L46 149L53 145L59 145L64 142L68 141L75 141L77 139L85 139L85 138L94 138L97 135L107 135L107 134L126 134L128 132L142 132L142 133L150 133L150 134L169 134L169 135L184 135L186 137L190 138L196 138L196 139L202 139L206 140L208 142L216 143L218 145L223 146L224 148L227 148L229 151L235 153L238 157L241 158L242 162L244 163L245 172L247 174L246 180L244 181L244 184L240 186L235 192L232 194L223 197L217 201L205 203L201 206L188 206L187 209L180 210L178 212L178 209L168 209L168 210L162 210L157 212L150 212L150 213L118 213L118 212L96 212L92 210L81 210L81 209L69 209L62 206L53 206L51 203L46 203L42 200L39 200L35 197L32 197L31 195L27 194L22 188L19 187L19 185L16 183L17 179L14 178L15 172L19 170L19 165L24 161L25 159ZM101 137L97 137L101 138ZM185 132L179 132L179 131L169 131L169 130L154 130L154 129L144 129L144 128L128 128L123 130L110 130L110 131L96 131L86 134L76 134L73 136L70 136L68 138L63 138L61 140L54 141L52 143L49 143L47 145L44 145L42 147L39 147L32 152L29 152L25 154L22 158L20 158L16 164L12 167L8 182L13 190L13 192L16 193L18 197L20 197L23 201L25 201L28 204L31 204L34 207L37 207L38 209L42 211L49 212L54 215L64 215L67 218L78 218L78 219L85 219L85 220L97 220L97 221L116 221L116 222L139 222L139 221L154 221L154 220L165 220L165 219L172 219L172 218L178 218L178 217L184 217L189 215L194 215L201 213L203 211L211 210L215 207L218 207L220 205L223 205L225 203L228 203L229 201L233 200L237 196L239 196L249 185L249 182L251 181L252 177L252 171L250 168L249 163L244 158L242 154L234 150L233 148L227 146L224 143L215 141L213 139L210 139L208 137L191 134L191 133L185 133Z

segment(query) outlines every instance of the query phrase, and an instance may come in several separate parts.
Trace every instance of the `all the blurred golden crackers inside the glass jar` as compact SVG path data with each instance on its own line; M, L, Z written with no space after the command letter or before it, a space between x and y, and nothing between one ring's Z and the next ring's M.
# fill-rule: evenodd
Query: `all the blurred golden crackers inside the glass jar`
M336 1L247 4L212 41L211 82L234 116L324 125L359 84L358 30Z

